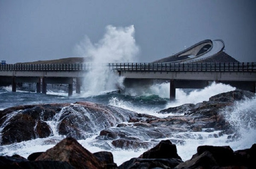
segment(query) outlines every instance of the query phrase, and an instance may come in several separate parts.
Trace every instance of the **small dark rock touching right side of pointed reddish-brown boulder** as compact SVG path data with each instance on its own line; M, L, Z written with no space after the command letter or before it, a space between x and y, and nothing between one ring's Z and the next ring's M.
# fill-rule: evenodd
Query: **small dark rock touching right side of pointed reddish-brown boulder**
M113 154L111 152L100 151L95 152L93 155L104 163L105 169L117 169L117 164L114 163Z

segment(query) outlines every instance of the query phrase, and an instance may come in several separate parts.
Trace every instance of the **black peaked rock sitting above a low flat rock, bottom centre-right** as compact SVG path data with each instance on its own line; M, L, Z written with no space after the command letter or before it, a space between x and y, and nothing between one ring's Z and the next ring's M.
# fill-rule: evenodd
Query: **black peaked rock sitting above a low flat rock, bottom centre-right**
M154 148L144 152L139 158L177 158L181 160L177 154L176 145L172 144L170 140L162 140Z

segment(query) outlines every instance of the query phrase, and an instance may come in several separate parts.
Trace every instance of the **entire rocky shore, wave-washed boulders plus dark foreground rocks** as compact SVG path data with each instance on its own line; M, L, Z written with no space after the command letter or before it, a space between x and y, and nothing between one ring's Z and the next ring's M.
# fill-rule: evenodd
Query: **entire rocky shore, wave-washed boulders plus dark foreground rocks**
M1 156L0 167L8 168L255 168L256 145L250 149L233 151L229 146L199 146L197 153L183 162L176 145L185 144L184 132L209 132L212 137L239 133L225 119L236 101L255 97L254 93L234 90L218 94L198 104L185 104L159 111L177 114L165 118L139 114L110 105L91 102L75 104L40 104L10 107L0 111L0 145L66 136L52 149L31 154L28 159L19 155ZM250 117L256 121L256 117ZM150 149L138 158L120 166L114 163L111 152L91 154L76 140L96 136L94 146L105 150L122 148ZM199 134L200 136L200 134ZM168 139L172 138L172 139ZM157 139L166 139L159 141ZM153 148L152 148L153 147Z

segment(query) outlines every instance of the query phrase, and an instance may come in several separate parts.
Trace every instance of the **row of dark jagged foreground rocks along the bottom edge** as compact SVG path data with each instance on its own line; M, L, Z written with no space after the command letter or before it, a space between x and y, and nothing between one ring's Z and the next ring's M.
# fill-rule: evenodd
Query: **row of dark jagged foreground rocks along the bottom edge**
M137 158L117 166L111 152L92 154L76 139L68 137L46 152L0 156L0 167L8 169L233 169L255 168L256 144L250 149L233 151L229 146L198 146L197 153L183 162L176 145L163 140Z

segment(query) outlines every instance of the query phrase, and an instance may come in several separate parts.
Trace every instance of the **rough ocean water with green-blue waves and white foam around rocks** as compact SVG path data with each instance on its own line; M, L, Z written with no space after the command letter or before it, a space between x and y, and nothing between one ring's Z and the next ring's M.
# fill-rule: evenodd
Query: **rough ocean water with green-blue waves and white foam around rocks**
M117 106L130 111L135 111L137 113L145 113L157 117L167 117L173 114L159 114L157 112L161 109L176 107L186 103L196 104L198 102L208 101L213 95L228 92L234 89L234 87L222 83L212 83L210 86L204 89L176 89L176 100L169 101L168 82L154 84L147 89L140 89L139 91L134 89L126 90L125 93L122 94L109 90L101 90L96 94L88 94L87 92L82 91L81 94L73 94L71 97L68 97L68 94L63 90L54 92L48 90L47 94L42 94L25 92L22 90L11 92L11 87L0 87L0 109L17 105L75 103L77 101L89 101L103 105ZM73 93L75 93L75 91ZM244 101L237 101L233 105L232 111L225 111L224 109L223 113L226 113L227 121L230 122L236 128L236 130L241 133L241 137L232 141L227 139L228 136L226 134L223 134L220 137L213 137L213 135L219 131L175 133L176 137L174 139L179 138L180 140L185 141L183 144L179 144L179 142L176 144L178 155L183 161L190 159L192 155L196 153L197 146L200 145L229 145L233 150L239 150L250 148L252 144L256 143L256 121L250 120L253 119L252 117L256 117L256 97ZM241 116L241 114L243 114L243 116ZM183 115L183 113L179 115ZM248 123L248 119L250 123ZM3 127L4 126L0 126L0 133ZM36 138L10 145L2 145L0 146L0 155L11 156L18 154L23 157L28 157L33 152L46 151L47 149L52 148L56 143L66 136L58 134L58 131L54 129L56 124L51 123L51 127L54 131L53 136L47 138ZM117 165L120 165L130 158L138 157L143 152L147 151L147 149L144 148L126 150L114 147L106 149L104 147L96 146L96 137L99 135L99 133L100 130L93 136L87 139L78 140L78 142L90 152L111 151L114 156L114 162L117 163ZM157 139L157 141L160 142L160 140L165 139L172 138L166 137Z

